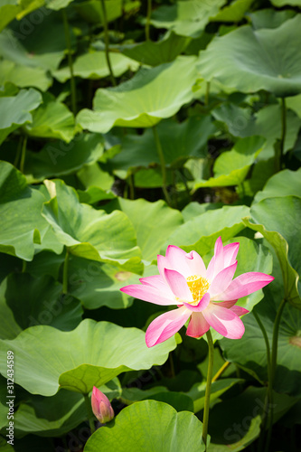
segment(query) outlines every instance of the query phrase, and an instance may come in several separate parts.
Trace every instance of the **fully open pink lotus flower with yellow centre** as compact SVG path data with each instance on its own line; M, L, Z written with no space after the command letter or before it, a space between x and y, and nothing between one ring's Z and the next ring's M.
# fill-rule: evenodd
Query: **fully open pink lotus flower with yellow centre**
M236 306L239 298L267 286L274 278L249 272L234 278L240 243L223 246L215 242L208 268L196 251L186 253L169 245L166 256L158 255L160 275L140 278L140 284L120 290L132 297L178 309L159 315L146 330L146 345L152 347L174 335L190 318L186 334L201 337L212 326L229 339L240 339L245 327L240 315L249 313Z

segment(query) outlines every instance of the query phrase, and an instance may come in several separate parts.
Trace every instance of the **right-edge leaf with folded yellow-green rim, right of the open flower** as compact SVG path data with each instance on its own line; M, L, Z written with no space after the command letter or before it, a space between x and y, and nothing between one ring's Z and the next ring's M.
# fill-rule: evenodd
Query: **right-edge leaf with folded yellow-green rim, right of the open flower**
M296 240L300 234L301 198L283 196L267 198L252 205L249 228L259 231L274 247L283 273L285 297L301 309L301 244Z

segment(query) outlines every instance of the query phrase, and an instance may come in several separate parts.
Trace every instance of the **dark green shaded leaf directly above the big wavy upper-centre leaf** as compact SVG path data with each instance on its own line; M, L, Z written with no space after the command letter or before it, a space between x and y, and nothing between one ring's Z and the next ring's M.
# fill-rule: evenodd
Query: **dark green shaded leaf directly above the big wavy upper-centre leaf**
M136 44L127 44L120 48L120 52L133 60L142 62L149 66L157 66L165 62L174 61L182 53L191 38L178 36L174 32L166 33L161 41L137 42Z

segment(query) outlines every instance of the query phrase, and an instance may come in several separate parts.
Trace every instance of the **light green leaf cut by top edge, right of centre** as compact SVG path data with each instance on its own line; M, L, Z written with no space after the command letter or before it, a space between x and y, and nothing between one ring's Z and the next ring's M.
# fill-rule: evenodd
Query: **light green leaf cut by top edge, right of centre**
M211 18L219 13L225 0L185 0L175 5L160 6L151 17L151 24L156 28L167 28L182 36L198 38Z

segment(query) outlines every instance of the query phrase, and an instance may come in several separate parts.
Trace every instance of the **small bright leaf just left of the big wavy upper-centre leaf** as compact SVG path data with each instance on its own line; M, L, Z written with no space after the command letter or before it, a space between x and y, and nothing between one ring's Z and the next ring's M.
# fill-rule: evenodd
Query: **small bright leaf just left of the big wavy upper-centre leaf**
M60 138L69 143L74 137L75 124L70 109L46 93L41 107L33 113L33 122L25 129L31 137Z

